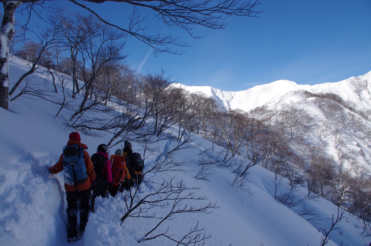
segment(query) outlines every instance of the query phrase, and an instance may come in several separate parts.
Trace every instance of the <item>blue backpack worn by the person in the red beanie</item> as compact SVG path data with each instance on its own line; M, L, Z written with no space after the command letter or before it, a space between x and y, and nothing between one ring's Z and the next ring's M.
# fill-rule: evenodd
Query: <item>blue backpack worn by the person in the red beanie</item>
M82 184L88 179L84 161L84 149L75 144L63 147L64 180L68 185Z

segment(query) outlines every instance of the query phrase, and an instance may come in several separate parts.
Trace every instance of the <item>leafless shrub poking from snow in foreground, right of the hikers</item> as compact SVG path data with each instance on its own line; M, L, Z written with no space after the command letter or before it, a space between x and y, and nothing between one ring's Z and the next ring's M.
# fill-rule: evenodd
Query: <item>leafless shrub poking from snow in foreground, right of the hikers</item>
M168 220L175 219L177 214L181 213L211 213L215 208L218 208L216 203L209 203L198 205L197 207L192 203L207 200L204 196L196 196L194 194L198 187L188 188L183 181L174 184L174 179L171 178L169 181L164 181L160 187L154 192L144 195L141 197L137 193L134 195L125 195L126 211L124 216L120 219L121 224L125 220L135 217L147 219L151 218L156 220L154 224L149 225L148 232L138 240L138 242L144 242L148 240L153 240L157 237L164 236L178 245L188 245L188 243L201 243L210 236L201 233L203 229L198 229L198 223L190 232L186 233L180 239L176 239L174 234L169 233L170 227L164 232L158 232L160 230L160 225ZM156 208L161 208L164 211L162 214L157 213ZM151 236L152 235L152 236Z

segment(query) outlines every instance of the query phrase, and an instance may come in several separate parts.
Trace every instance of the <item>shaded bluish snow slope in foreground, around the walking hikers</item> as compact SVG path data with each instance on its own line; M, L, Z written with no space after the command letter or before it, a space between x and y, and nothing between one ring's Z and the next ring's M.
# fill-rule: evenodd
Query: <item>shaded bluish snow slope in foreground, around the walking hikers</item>
M14 59L10 66L14 83L16 73L25 69L21 61ZM37 78L35 78L36 80ZM43 81L43 78L39 78ZM291 84L291 82L285 82ZM295 85L294 85L295 86ZM269 88L269 87L267 87ZM274 91L272 89L272 91ZM275 93L270 93L272 97ZM278 95L277 95L278 97ZM254 103L252 101L252 103ZM255 102L258 104L258 102ZM86 232L74 243L66 240L66 199L63 188L63 175L51 175L45 169L58 160L62 146L68 140L69 129L63 120L56 118L57 107L44 100L19 98L9 104L9 111L0 109L2 126L0 129L0 149L3 158L0 162L0 238L1 245L138 245L151 229L154 219L131 218L120 226L119 218L125 212L122 197L97 198L95 213L91 213ZM107 143L109 135L90 137L81 134L82 143L89 146L90 155L96 147ZM259 166L251 168L249 191L231 185L234 174L228 169L211 168L210 181L195 179L200 166L197 161L200 151L211 148L211 143L199 136L193 136L194 148L181 150L179 159L191 163L186 172L159 172L145 176L139 188L139 196L155 191L164 179L174 177L183 180L190 187L200 187L196 195L206 195L207 203L217 203L219 208L210 214L180 214L174 220L160 227L164 232L168 227L170 234L182 237L199 221L204 233L211 235L205 245L212 246L317 246L322 234L317 228L329 227L328 219L337 213L337 207L324 199L308 201L318 211L321 219L312 225L295 212L273 199L274 175ZM198 145L200 143L200 145ZM146 159L146 166L153 164L157 151L170 141L154 143L154 150ZM114 152L119 146L114 146ZM143 150L141 143L133 142L133 149ZM214 151L220 151L216 148ZM281 188L285 191L287 184ZM305 193L305 190L302 191ZM197 203L193 205L199 205ZM161 213L161 210L158 210ZM370 238L362 236L361 221L345 213L342 220L342 233L332 232L329 246L368 245ZM140 243L141 245L176 245L173 241L158 237Z

